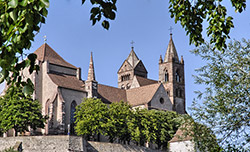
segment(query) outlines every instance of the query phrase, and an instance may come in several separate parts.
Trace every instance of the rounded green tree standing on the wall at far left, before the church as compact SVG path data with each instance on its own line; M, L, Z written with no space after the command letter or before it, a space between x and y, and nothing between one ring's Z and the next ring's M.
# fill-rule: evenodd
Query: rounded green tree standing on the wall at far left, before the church
M17 135L29 131L28 127L44 128L45 121L39 101L25 96L20 88L11 87L0 98L0 128L3 132L14 129Z

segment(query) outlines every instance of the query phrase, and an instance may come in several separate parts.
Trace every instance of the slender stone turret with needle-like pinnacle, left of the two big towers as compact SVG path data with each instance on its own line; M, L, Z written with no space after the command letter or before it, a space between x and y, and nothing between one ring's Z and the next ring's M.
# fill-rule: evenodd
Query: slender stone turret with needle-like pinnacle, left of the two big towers
M93 55L91 52L88 79L85 81L85 90L88 92L88 98L97 98L97 86L97 81L95 80Z

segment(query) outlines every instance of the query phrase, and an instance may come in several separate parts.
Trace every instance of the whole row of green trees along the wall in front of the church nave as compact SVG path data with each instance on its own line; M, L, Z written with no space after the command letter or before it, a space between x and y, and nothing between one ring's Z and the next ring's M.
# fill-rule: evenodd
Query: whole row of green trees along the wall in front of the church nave
M101 134L109 142L134 142L141 146L154 143L160 149L167 147L181 120L175 112L132 109L123 101L106 105L100 99L90 98L76 108L75 130L87 140Z

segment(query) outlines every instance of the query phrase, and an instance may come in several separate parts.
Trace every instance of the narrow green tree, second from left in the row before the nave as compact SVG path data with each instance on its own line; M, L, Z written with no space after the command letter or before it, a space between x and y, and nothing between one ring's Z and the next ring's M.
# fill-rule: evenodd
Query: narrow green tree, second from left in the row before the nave
M128 121L132 115L132 108L126 102L111 103L108 109L108 119L105 125L105 135L109 137L110 142L119 139L125 143L131 140L131 135L128 130Z

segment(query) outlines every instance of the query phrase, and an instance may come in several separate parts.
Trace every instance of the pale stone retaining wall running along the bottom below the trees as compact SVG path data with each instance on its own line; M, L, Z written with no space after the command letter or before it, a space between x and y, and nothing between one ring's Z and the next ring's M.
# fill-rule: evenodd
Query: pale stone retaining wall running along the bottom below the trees
M14 147L16 143L22 143L23 152L160 152L139 146L86 142L78 136L5 137L0 138L0 151Z

